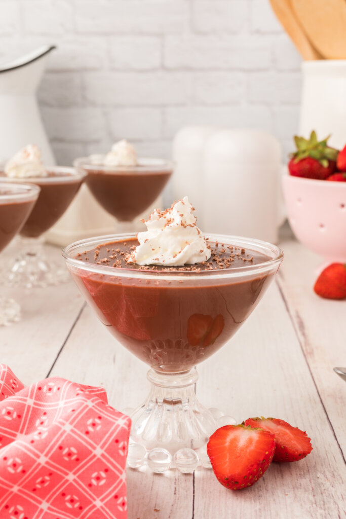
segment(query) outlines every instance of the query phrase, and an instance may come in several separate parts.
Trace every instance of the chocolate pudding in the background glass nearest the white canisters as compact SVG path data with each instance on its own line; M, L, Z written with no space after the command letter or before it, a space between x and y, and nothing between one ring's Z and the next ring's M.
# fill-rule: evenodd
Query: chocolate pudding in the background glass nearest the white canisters
M75 166L87 171L86 183L101 206L119 221L131 222L160 195L172 165L163 160L138 166L92 166L77 159Z

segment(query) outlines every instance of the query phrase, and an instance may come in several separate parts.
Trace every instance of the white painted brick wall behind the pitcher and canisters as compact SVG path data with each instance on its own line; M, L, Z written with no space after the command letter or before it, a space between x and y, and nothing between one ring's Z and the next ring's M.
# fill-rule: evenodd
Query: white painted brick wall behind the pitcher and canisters
M186 124L292 147L300 57L269 0L0 0L0 61L56 44L38 97L60 163L127 137L167 156Z

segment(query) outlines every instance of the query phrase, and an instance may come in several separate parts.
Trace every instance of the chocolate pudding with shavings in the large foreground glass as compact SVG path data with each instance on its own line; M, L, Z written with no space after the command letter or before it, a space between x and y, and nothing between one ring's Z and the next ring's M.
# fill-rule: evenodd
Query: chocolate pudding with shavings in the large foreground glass
M70 270L119 342L166 373L189 370L225 344L278 268L266 267L273 258L261 252L218 242L210 242L210 260L198 265L126 263L138 243L128 239L98 245L78 253L80 268ZM253 267L260 264L264 268L257 273Z

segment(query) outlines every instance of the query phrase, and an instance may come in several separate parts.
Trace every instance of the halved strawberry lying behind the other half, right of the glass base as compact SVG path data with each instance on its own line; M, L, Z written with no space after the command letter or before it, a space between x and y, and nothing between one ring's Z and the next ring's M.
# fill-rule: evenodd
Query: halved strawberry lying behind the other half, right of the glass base
M273 461L299 461L312 450L311 440L306 432L292 427L279 418L248 418L246 426L260 427L271 432L275 437L275 454Z

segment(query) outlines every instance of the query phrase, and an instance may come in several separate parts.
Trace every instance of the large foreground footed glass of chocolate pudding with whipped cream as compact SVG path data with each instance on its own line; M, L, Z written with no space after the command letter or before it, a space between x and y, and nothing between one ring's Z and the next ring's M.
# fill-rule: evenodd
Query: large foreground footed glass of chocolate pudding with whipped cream
M196 398L194 366L236 333L283 255L259 240L205 237L187 197L145 224L137 235L75 242L63 256L101 322L151 368L150 394L131 413L132 440L173 456L202 448L217 428Z

